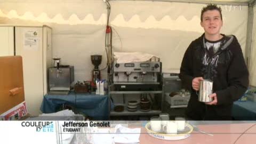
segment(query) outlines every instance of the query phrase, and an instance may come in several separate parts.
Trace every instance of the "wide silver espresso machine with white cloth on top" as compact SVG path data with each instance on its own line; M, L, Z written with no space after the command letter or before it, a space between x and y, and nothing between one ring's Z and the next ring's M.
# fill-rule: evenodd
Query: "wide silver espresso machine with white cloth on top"
M129 62L112 65L112 79L116 90L150 91L161 87L162 62Z

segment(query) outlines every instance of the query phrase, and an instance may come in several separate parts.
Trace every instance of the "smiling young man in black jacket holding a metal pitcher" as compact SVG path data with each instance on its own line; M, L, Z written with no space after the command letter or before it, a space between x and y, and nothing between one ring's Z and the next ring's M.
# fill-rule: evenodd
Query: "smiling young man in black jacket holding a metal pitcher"
M201 11L205 33L191 42L180 68L182 85L191 90L186 110L188 119L231 120L233 102L246 91L249 73L241 46L234 35L220 34L221 8L209 4ZM213 81L212 102L199 102L200 81Z

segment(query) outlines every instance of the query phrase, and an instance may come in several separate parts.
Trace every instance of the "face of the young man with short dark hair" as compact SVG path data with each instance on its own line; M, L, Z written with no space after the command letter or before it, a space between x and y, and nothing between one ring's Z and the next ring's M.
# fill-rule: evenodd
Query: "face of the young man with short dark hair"
M218 10L208 10L203 13L201 26L204 28L205 34L219 35L222 25L223 22L220 18L220 12Z

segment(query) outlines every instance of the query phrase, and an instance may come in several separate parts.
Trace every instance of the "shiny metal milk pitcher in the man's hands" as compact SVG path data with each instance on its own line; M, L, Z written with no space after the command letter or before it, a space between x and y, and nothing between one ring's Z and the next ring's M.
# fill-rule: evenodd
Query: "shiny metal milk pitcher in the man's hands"
M200 82L198 101L211 102L212 98L209 97L212 94L213 82L209 79L204 79Z

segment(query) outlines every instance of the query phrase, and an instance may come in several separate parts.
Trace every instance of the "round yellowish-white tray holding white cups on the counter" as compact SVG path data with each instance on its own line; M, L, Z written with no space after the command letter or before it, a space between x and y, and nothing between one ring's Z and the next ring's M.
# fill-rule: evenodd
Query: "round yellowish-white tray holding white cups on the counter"
M161 140L182 140L190 137L190 133L193 131L193 126L186 123L184 132L178 132L177 134L166 134L166 133L158 133L150 130L150 122L148 122L145 126L147 133L151 135L151 137L161 139Z

